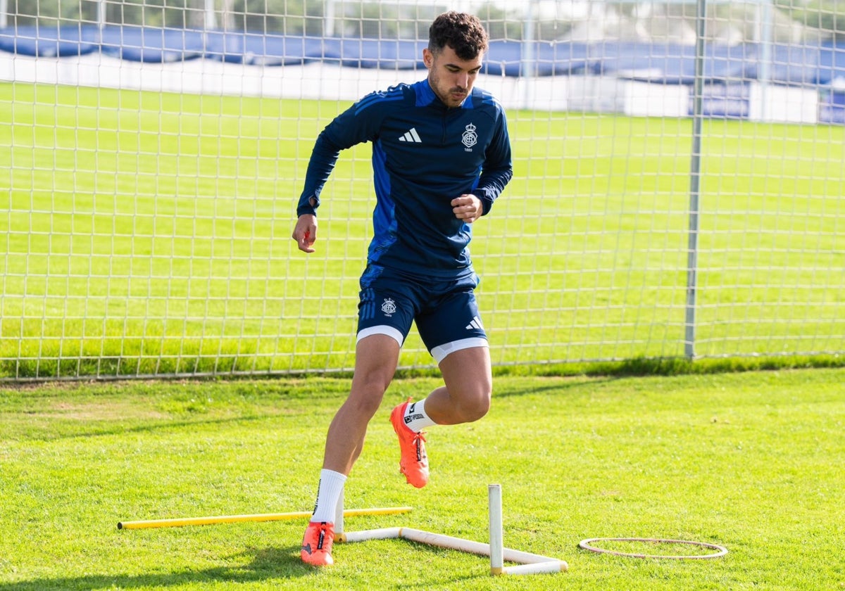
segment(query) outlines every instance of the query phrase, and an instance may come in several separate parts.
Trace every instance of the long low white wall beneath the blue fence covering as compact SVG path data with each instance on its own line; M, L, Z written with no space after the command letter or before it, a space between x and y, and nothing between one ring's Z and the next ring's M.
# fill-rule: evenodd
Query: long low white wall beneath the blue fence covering
M244 66L215 60L141 63L93 53L29 57L0 52L0 80L40 84L143 89L206 95L268 96L352 102L375 89L414 82L423 71L306 66ZM690 87L649 84L608 76L517 79L482 76L477 85L509 109L619 112L632 117L688 117ZM815 89L750 85L750 119L815 123Z

